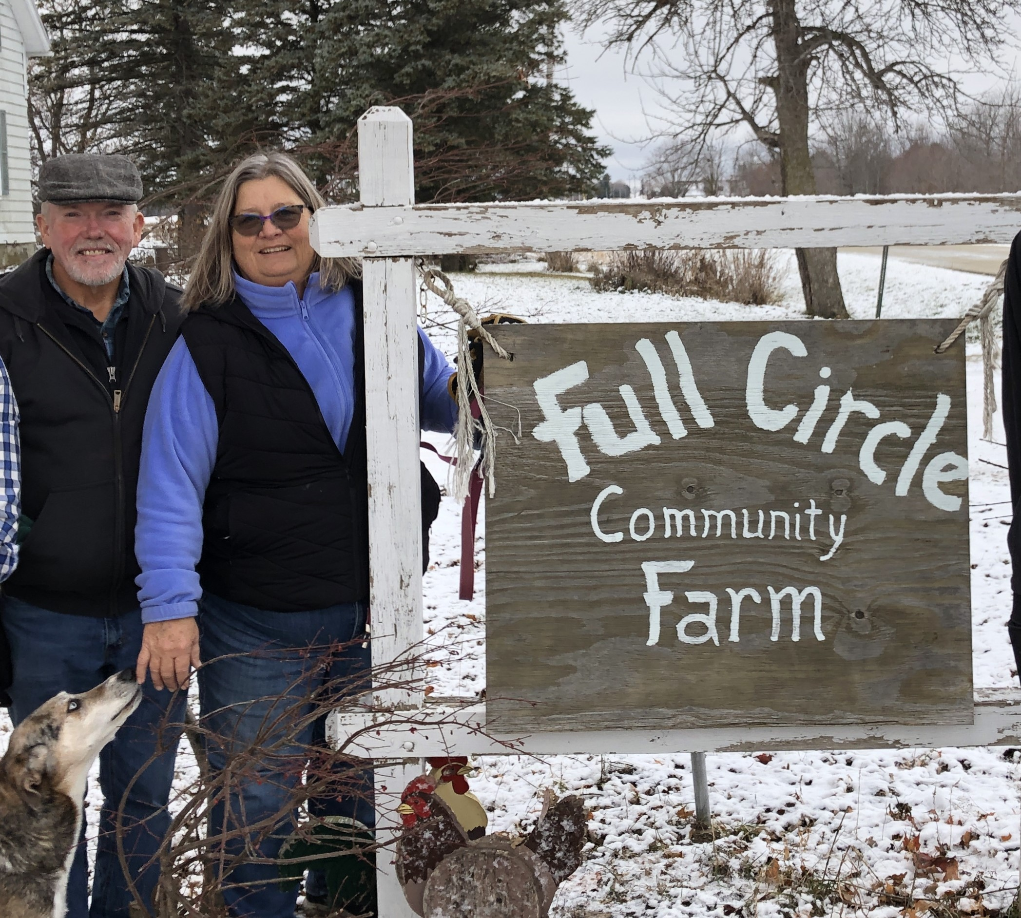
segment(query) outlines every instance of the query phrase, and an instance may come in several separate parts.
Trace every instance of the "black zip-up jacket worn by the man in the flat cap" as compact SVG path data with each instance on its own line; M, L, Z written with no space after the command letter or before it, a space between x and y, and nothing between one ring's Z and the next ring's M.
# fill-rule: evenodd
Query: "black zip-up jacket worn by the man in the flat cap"
M0 279L0 358L20 413L32 528L4 592L53 612L138 607L135 491L149 391L181 325L181 291L129 265L114 361L95 321L46 277L47 249Z

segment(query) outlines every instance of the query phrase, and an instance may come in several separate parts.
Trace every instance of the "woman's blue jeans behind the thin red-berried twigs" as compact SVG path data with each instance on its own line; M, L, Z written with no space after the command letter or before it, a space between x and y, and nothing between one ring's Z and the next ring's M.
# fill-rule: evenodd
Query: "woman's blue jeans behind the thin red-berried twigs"
M339 683L354 690L368 684L370 651L357 642L340 653L331 644L346 643L364 633L366 607L345 603L314 612L265 612L206 593L199 605L203 666L199 670L202 726L209 731L209 766L220 772L232 752L243 755L264 748L256 763L238 768L232 785L231 812L213 808L210 834L224 827L237 830L286 813L309 746L323 742L325 715L311 718ZM232 656L233 655L233 656ZM317 695L312 700L312 695ZM307 721L307 722L305 722ZM295 724L299 724L295 726ZM375 825L372 772L345 775L347 792L329 801L311 801L318 816L346 816ZM226 822L225 822L226 819ZM273 860L296 824L297 814L284 816L271 831L228 838L229 856L245 851L246 840L260 858ZM276 864L242 862L224 883L224 901L236 918L293 918L297 889L283 889Z

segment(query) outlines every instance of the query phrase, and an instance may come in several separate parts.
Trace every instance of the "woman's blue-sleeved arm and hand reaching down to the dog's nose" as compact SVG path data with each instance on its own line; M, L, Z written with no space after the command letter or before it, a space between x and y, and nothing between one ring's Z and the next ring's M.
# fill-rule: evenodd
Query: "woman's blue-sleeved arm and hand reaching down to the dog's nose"
M142 435L135 553L142 621L141 684L177 689L199 665L195 566L202 503L216 454L216 413L184 339L171 350L149 396Z

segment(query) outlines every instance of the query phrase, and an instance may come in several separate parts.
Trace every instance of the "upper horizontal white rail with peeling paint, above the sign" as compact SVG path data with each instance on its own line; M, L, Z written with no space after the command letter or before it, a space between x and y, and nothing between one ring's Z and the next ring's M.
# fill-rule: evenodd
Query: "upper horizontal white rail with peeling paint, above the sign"
M1021 195L706 198L327 207L312 244L330 257L822 248L1010 242Z

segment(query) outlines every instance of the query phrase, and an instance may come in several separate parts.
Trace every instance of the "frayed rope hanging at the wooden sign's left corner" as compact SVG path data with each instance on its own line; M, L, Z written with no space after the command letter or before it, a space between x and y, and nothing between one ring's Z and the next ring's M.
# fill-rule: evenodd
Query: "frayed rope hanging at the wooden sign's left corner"
M498 357L513 360L514 354L504 350L500 343L489 334L478 313L472 308L472 304L454 293L450 278L442 271L436 268L423 269L422 282L460 317L457 322L457 433L454 445L457 464L454 466L453 473L453 495L457 501L464 501L469 496L475 466L476 435L478 434L479 448L482 450L479 475L485 479L488 485L487 491L492 497L496 493L496 479L493 474L493 462L496 456L496 430L489 417L489 412L486 410L478 380L472 372L469 329L478 333L478 336L493 349ZM473 399L478 406L478 420L472 417Z

